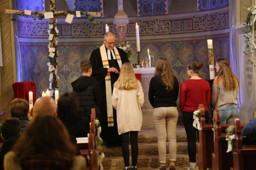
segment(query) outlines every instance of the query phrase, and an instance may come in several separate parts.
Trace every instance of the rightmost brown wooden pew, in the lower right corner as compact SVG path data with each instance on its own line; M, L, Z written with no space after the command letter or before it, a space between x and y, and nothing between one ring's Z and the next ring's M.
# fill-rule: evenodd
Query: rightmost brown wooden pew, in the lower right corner
M239 119L233 120L235 126L235 147L233 150L234 167L232 170L253 170L255 169L256 145L243 145L241 130L242 125Z

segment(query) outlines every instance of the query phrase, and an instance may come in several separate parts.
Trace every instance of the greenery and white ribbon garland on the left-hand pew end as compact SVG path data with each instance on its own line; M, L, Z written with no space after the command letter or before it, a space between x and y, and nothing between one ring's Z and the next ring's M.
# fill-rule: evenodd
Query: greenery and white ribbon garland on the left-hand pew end
M100 166L100 170L103 170L102 161L105 157L104 153L102 152L101 145L103 143L100 133L101 133L101 127L100 127L100 121L98 119L94 120L95 128L96 128L96 148L98 150L98 164Z

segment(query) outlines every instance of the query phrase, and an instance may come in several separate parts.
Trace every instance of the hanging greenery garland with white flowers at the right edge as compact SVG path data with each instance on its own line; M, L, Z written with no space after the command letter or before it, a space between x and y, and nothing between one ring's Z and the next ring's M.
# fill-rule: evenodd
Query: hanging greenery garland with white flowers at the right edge
M254 63L254 61L252 60L251 58L251 55L252 55L252 51L256 51L256 48L254 48L254 45L253 43L254 42L251 42L251 38L252 38L252 28L254 28L254 32L256 32L256 22L252 23L253 25L251 25L251 19L252 17L254 18L255 17L255 14L256 14L256 6L254 6L254 8L248 8L247 9L249 11L247 17L246 17L246 20L245 20L245 35L244 35L244 38L245 38L245 44L246 44L246 47L245 47L245 51L243 51L244 53L244 57L246 57L246 60L251 63L254 67L256 67L256 64Z

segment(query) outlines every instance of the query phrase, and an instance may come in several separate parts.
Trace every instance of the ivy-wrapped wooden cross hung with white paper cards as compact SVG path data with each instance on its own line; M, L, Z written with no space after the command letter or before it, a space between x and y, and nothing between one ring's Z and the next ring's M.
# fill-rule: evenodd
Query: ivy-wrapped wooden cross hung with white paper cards
M57 26L56 18L58 18L59 16L67 16L68 14L76 15L76 11L55 12L56 7L55 7L54 3L52 2L52 0L49 0L49 2L50 2L50 12L53 12L53 16L54 16L54 18L52 18L50 23L49 23L49 24L53 25L53 28L50 29L50 33L53 34L53 38L50 41L50 43L51 43L50 47L55 48L55 55L54 55L54 57L49 57L50 52L48 52L48 59L49 59L50 64L52 66L54 66L54 68L56 69L57 64L58 64L57 61L56 61L56 58L58 57L57 56L58 48L57 48L57 45L55 44L55 42L56 42L56 39L59 37L58 33L54 29ZM80 14L81 14L81 16L85 16L90 21L92 21L92 23L94 25L98 24L98 21L94 17L90 16L87 12L80 11ZM20 16L28 16L28 15L24 14L24 11L19 11L19 12L16 12L14 14L14 17L12 18L12 21L16 21L16 19L18 18L19 15ZM44 12L32 11L31 16L38 16L38 17L33 17L33 20L36 20L36 19L43 20L44 19ZM51 90L55 90L56 88L58 88L57 75L55 74L55 70L51 71L51 73L52 73L52 81L51 81L52 89Z

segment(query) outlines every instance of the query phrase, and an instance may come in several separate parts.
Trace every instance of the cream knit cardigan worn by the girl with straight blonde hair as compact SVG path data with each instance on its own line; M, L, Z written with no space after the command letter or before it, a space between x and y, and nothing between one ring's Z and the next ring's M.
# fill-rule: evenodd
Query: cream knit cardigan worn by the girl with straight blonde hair
M114 87L112 105L116 109L119 135L128 131L140 131L143 103L144 93L140 82L139 88L133 90L118 90Z

